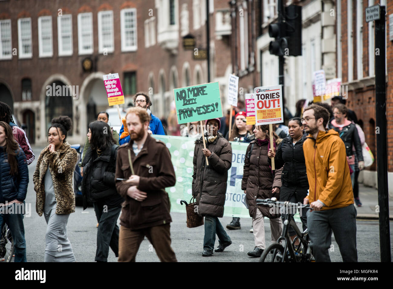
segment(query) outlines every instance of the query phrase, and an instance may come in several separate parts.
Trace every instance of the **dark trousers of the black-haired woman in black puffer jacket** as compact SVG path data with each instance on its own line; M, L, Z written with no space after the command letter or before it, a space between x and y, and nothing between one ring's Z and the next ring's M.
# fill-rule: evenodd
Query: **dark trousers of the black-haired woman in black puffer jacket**
M119 256L119 227L117 225L121 207L105 207L100 201L93 203L97 217L97 250L95 261L107 262L109 247Z

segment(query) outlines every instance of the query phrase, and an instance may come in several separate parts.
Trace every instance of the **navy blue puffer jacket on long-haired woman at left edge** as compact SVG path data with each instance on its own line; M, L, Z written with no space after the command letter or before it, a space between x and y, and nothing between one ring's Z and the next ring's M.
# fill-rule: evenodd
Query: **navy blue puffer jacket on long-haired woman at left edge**
M20 148L20 146L19 146ZM8 155L4 147L0 146L0 203L6 201L24 201L26 198L27 185L29 183L29 170L26 156L20 148L17 157L18 174L11 176L11 167L8 163Z

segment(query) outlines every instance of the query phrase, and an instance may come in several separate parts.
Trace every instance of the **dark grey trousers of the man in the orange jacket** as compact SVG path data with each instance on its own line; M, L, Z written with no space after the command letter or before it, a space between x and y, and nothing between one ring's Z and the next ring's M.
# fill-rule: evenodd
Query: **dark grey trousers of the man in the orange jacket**
M316 262L331 262L328 250L332 243L332 230L343 262L358 262L356 214L353 204L338 209L307 212L310 246Z

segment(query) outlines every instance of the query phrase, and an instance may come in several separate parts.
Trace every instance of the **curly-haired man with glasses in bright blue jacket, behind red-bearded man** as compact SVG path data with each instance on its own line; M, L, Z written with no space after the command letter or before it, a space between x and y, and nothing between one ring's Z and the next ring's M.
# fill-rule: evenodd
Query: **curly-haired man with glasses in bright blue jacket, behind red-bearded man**
M149 123L149 134L159 134L159 135L165 135L164 128L162 126L162 123L158 117L153 115L151 113L150 107L152 106L152 103L150 101L149 95L143 92L138 92L134 96L134 105L139 106L141 108L145 108L147 113L150 115L150 123ZM125 121L123 121L124 123ZM119 144L125 144L130 142L130 135L128 132L124 131L124 124L121 125L120 129L120 139L119 139Z

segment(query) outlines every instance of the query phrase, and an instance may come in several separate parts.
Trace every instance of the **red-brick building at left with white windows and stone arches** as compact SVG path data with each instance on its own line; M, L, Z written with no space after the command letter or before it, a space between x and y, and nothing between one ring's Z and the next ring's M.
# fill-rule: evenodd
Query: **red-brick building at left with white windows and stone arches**
M220 82L225 105L229 6L209 6L210 81ZM88 123L109 108L104 74L119 73L124 107L145 91L160 118L169 113L173 88L207 82L207 62L194 56L195 48L206 49L205 0L6 0L0 31L0 99L27 125L31 143L46 143L58 115L73 120L69 142L84 141ZM184 48L184 36L195 39L194 49Z

